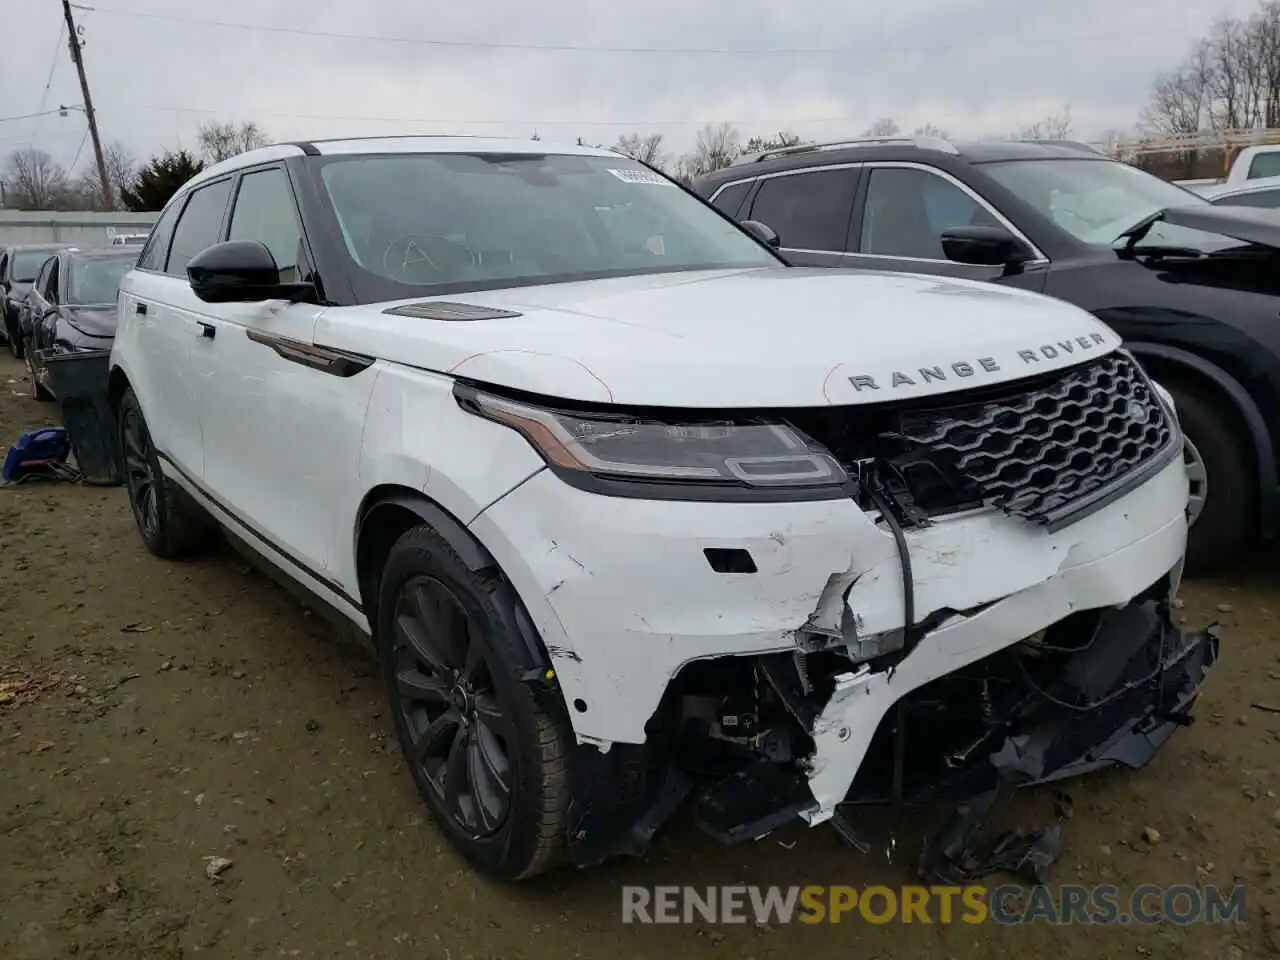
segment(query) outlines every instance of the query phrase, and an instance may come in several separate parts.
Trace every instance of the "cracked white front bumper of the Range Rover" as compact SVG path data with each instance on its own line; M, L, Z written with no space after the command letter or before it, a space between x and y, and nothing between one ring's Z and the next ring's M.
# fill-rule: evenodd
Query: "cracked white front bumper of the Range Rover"
M1166 595L1176 589L1185 504L1187 475L1175 461L1052 532L992 511L908 530L915 622L924 625L918 643L892 668L846 664L813 723L797 812L810 823L832 817L891 708L913 691L1073 614L1125 607L1153 584ZM595 832L591 817L614 827L652 823L649 806L622 809L639 794L664 803L652 788L616 785L652 786L637 751L684 669L790 657L814 628L838 634L852 650L904 626L893 536L851 500L632 500L584 493L543 471L471 527L527 608L584 745L576 759L584 836ZM794 767L774 764L773 773L783 771L797 778Z

